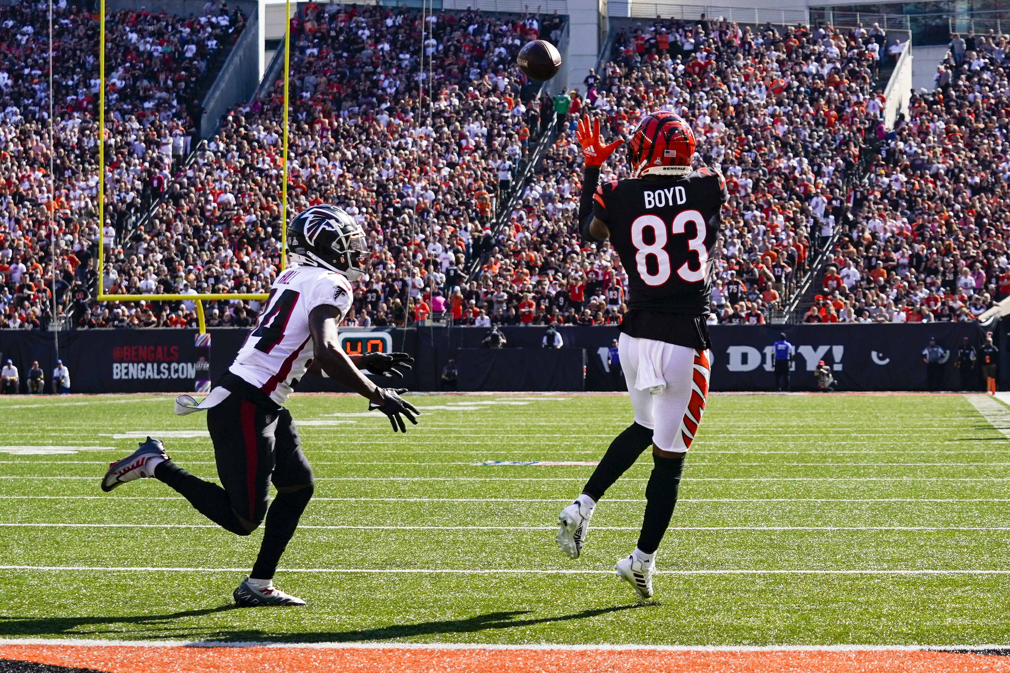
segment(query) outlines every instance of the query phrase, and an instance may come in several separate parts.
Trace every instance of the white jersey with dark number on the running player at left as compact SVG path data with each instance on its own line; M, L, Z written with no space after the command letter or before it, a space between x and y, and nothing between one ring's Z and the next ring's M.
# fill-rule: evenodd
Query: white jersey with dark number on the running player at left
M318 266L292 266L274 283L256 328L228 371L283 405L315 350L310 343L309 313L324 304L346 315L354 299L350 283Z

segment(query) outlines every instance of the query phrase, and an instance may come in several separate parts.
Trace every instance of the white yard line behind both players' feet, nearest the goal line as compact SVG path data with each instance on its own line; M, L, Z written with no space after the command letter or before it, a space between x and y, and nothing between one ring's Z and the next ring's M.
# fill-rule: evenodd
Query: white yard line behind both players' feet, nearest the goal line
M248 573L248 568L169 568L142 566L86 566L86 565L0 565L0 570L47 571L97 571L97 572L237 572ZM434 569L434 568L280 568L278 572L299 573L355 573L384 575L612 575L613 570L533 570L529 568L493 569ZM660 575L1010 575L1010 570L655 570Z

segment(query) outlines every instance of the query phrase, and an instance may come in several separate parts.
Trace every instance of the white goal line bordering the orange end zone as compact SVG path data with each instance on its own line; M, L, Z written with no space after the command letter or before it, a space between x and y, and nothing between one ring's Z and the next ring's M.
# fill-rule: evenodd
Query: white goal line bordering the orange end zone
M49 645L59 647L132 647L132 648L272 648L300 650L535 650L593 652L628 652L645 650L654 652L987 652L1006 650L1008 645L637 645L610 644L565 645L535 643L530 645L504 645L483 643L283 643L277 641L120 641L77 638L2 638L5 645Z

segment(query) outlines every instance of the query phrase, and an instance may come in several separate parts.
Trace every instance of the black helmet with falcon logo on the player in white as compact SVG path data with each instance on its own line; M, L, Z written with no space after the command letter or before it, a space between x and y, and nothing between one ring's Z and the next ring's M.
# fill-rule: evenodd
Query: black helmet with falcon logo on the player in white
M365 231L336 206L306 208L288 226L288 250L296 264L322 266L357 281L364 270Z

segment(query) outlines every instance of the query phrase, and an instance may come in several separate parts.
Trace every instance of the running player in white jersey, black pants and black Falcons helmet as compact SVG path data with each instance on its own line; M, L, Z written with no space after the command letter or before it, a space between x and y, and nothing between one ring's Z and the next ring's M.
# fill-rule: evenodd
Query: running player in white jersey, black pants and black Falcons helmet
M312 468L302 453L291 413L282 406L306 371L322 373L369 400L369 409L406 431L403 417L417 424L418 411L360 369L402 376L413 361L406 353L348 356L339 347L337 326L350 308L350 281L363 271L365 232L345 212L329 205L302 211L288 228L293 266L274 283L256 328L228 372L199 405L189 396L177 414L207 410L207 429L221 485L175 464L158 439L109 466L102 490L140 477L169 484L201 514L236 535L248 535L266 519L252 571L233 595L239 605L304 605L273 584L281 554L312 497ZM270 484L277 497L270 502ZM268 507L269 506L269 507Z

